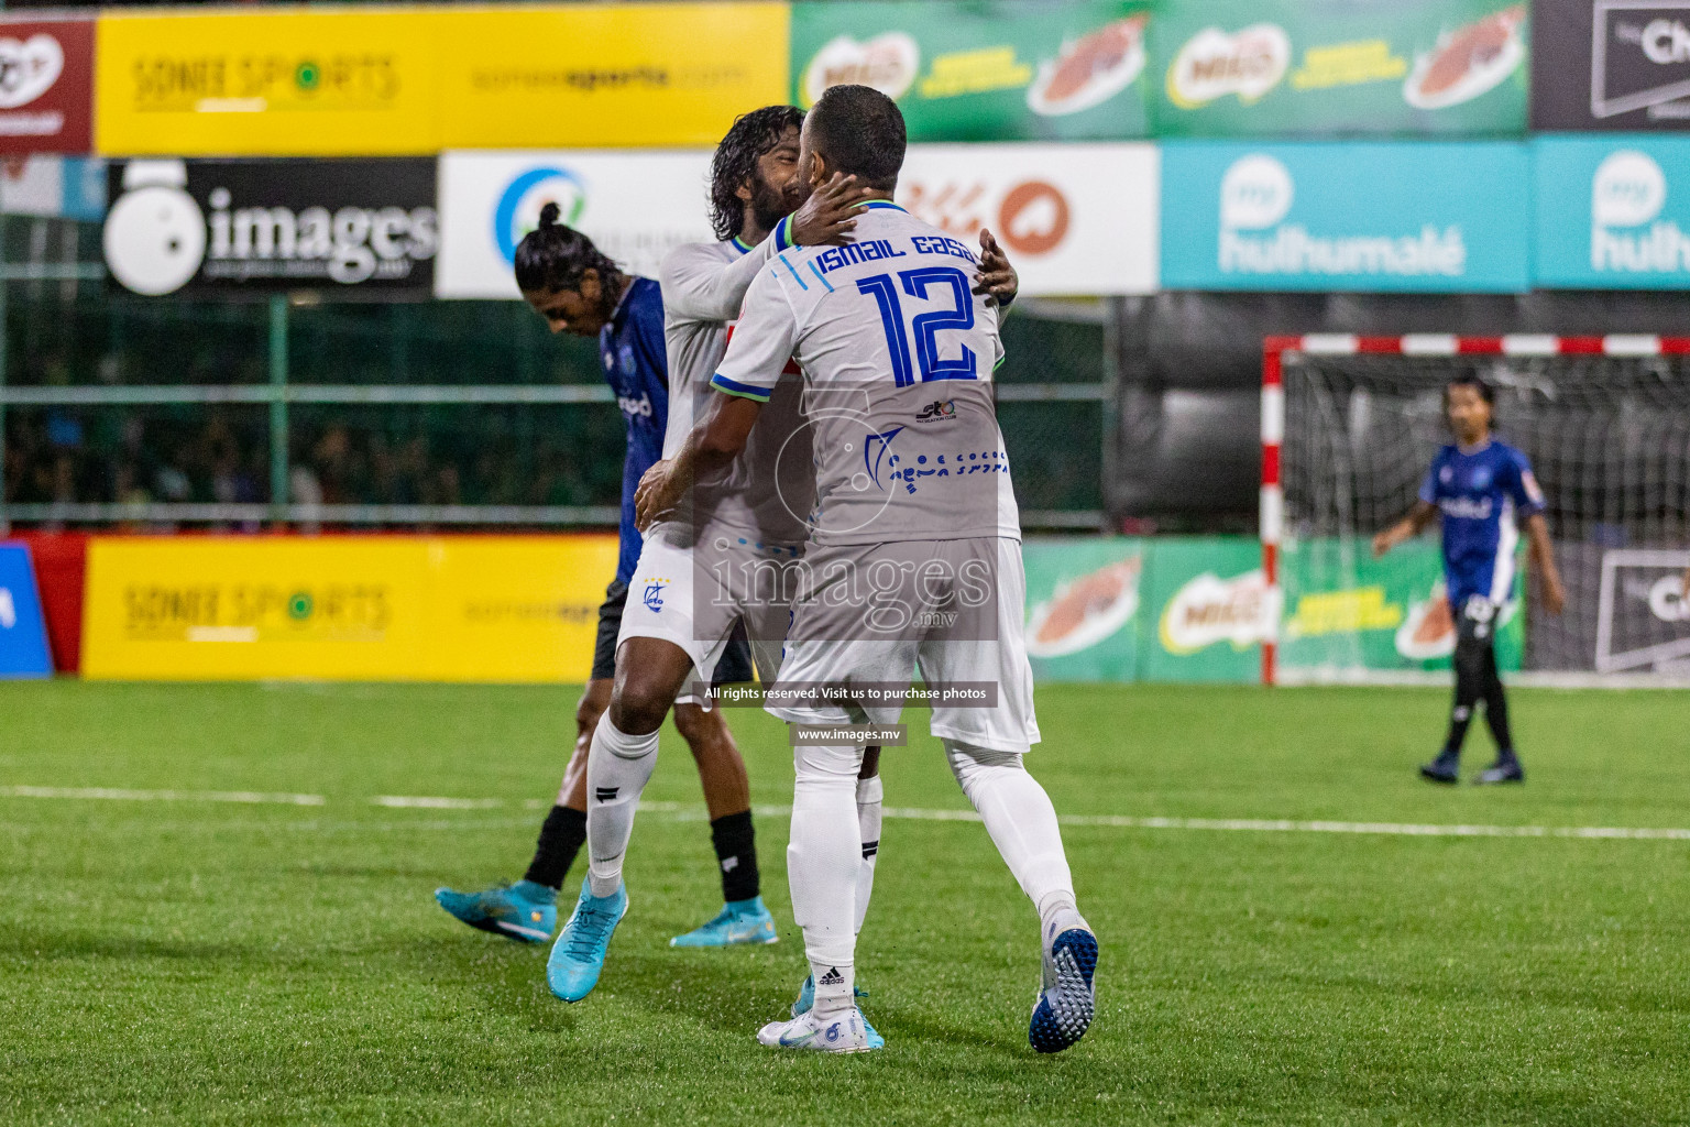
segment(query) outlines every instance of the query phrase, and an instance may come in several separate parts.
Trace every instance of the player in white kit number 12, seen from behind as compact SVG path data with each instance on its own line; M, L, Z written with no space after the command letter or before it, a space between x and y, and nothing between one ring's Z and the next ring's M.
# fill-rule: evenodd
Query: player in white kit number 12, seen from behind
M852 174L877 199L850 245L781 250L759 272L711 380L723 394L674 458L647 471L635 505L649 519L730 465L760 429L788 357L798 362L816 507L781 684L850 696L769 711L803 725L891 723L901 703L875 691L918 671L953 691L935 705L931 732L1038 907L1044 980L1028 1036L1055 1053L1090 1026L1097 939L1075 902L1056 813L1021 762L1039 732L1019 515L990 390L999 311L972 286L973 252L891 201L904 147L902 115L879 91L835 86L815 105L799 176L820 186ZM815 1005L766 1026L764 1044L870 1048L853 1002L860 759L860 743L798 742L788 875Z

